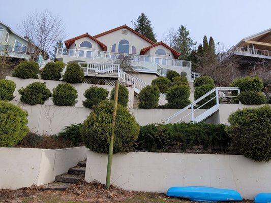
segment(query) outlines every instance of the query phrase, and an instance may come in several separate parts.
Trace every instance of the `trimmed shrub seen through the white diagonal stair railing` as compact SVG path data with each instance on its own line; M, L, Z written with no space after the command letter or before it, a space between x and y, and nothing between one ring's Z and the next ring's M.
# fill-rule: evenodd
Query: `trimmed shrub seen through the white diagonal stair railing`
M214 89L215 86L212 84L207 84L207 85L201 85L199 87L195 88L195 92L194 92L194 98L195 100L198 99L199 97L201 97L202 95L206 94L208 91ZM201 106L204 103L206 103L208 100L210 100L211 98L213 98L214 96L216 96L216 93L212 93L208 96L206 96L204 99L202 99L201 101L199 101L197 103L197 106ZM216 98L214 98L213 100L210 100L207 104L205 104L204 106L201 107L201 109L209 109L213 106L216 105Z

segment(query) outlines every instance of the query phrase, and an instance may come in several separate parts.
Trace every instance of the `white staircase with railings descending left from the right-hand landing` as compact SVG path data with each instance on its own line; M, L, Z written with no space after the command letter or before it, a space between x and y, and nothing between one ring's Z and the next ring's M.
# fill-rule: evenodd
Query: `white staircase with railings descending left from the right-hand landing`
M240 89L237 87L216 87L197 100L193 101L190 105L185 107L184 109L176 112L172 116L168 117L166 119L166 123L178 123L182 121L195 121L200 122L208 118L209 116L212 116L215 112L219 111L219 98L220 97L236 97L236 95L232 95L231 91L237 91L238 94L240 93ZM200 105L197 107L199 101L206 98L210 94L215 93L215 96L206 101L203 105ZM210 103L210 101L216 101L216 104L206 110L200 109L201 107L205 106L206 104ZM189 118L190 117L190 118Z

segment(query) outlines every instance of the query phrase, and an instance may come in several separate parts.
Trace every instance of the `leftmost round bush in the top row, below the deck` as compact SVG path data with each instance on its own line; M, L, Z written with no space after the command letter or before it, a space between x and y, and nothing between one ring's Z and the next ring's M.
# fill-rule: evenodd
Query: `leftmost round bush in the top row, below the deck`
M38 79L39 69L39 64L34 61L22 61L15 66L12 76L23 79Z

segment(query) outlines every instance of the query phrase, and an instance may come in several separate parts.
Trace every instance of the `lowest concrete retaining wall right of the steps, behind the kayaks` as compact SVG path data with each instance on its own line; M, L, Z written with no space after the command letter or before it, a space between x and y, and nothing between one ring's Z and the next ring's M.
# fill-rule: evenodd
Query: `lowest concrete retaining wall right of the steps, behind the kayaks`
M107 155L87 153L85 181L105 183ZM271 163L241 155L130 152L114 154L111 183L126 190L166 193L173 186L235 189L243 198L270 192Z

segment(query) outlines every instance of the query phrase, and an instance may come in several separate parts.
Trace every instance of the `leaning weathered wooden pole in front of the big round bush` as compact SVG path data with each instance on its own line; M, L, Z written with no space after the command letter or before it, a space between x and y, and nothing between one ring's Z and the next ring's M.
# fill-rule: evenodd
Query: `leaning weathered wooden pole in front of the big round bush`
M115 83L115 94L114 94L114 109L113 109L113 119L112 119L112 133L110 138L109 152L108 152L108 161L107 161L107 172L106 172L106 189L110 188L110 178L111 178L111 166L112 166L112 156L113 156L113 147L114 147L114 135L115 135L115 122L116 122L116 110L117 110L117 97L118 97L118 86L119 78Z

